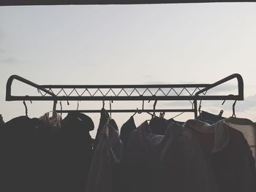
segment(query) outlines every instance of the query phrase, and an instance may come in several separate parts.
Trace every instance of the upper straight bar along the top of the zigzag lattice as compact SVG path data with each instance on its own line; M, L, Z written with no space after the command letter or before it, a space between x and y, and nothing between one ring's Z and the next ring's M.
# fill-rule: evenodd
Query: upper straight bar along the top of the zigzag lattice
M206 88L211 84L167 85L40 85L41 88Z

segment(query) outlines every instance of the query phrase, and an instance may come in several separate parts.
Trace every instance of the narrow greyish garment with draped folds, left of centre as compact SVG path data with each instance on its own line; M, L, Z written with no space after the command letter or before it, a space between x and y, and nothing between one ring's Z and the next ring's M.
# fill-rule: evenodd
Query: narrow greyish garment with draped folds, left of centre
M116 122L111 119L99 134L99 143L94 150L86 192L120 192L120 171L118 164L123 156Z

